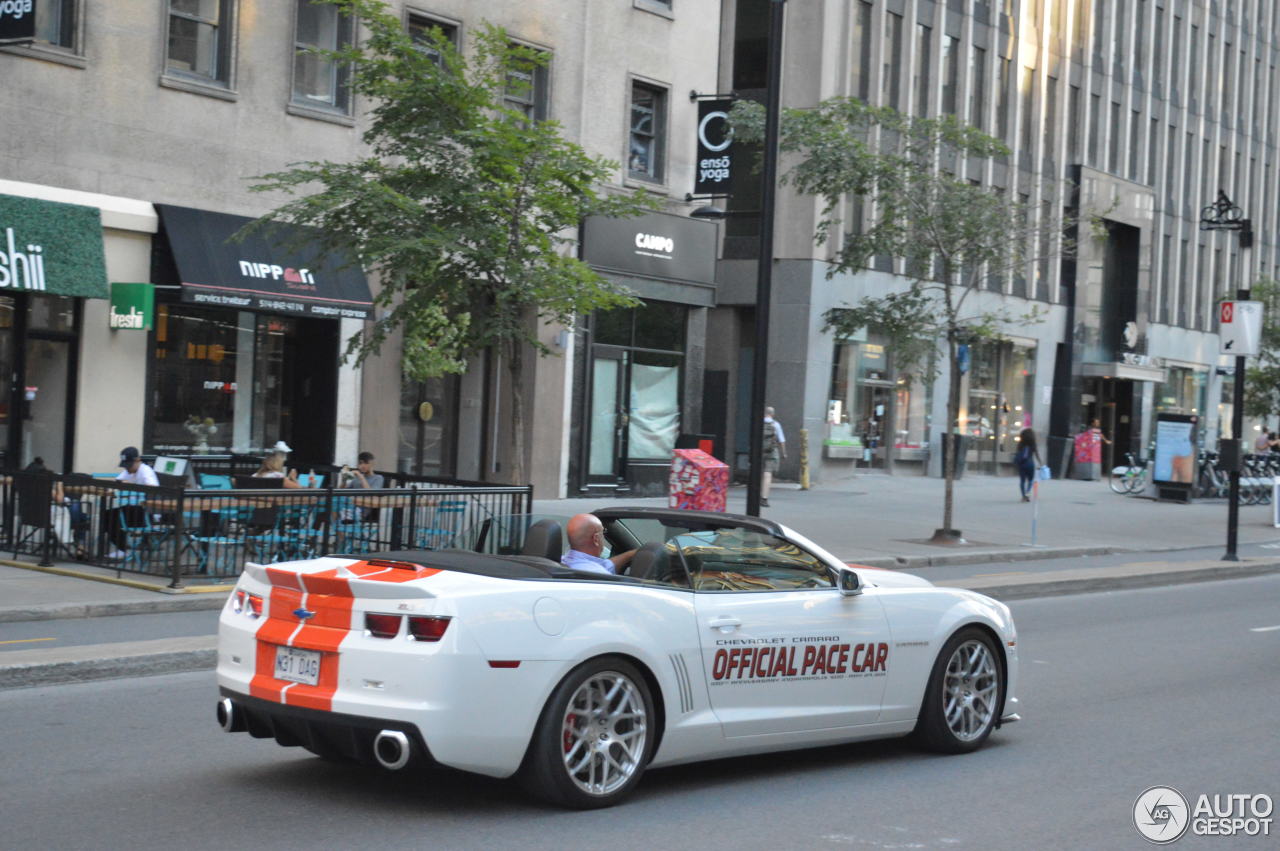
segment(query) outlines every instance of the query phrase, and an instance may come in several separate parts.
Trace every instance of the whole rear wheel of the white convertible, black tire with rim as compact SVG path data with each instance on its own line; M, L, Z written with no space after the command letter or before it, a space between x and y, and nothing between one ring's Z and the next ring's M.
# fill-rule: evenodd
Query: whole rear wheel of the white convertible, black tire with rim
M598 685L618 687L613 700L605 701L617 717L590 717L593 701L607 696ZM639 718L634 710L641 706ZM520 783L530 795L559 806L613 806L640 782L657 735L653 697L635 665L617 656L590 659L566 674L543 706ZM575 756L580 765L576 772L571 768ZM596 769L602 782L593 790L590 779L596 777ZM616 777L611 778L611 772Z

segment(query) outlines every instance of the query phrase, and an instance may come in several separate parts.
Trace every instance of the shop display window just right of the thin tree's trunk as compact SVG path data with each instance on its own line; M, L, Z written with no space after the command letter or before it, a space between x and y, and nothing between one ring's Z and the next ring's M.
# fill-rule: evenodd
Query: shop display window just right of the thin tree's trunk
M969 371L960 378L960 429L969 435L973 458L1009 461L1023 429L1043 425L1032 416L1036 394L1036 346L979 343L970 347Z

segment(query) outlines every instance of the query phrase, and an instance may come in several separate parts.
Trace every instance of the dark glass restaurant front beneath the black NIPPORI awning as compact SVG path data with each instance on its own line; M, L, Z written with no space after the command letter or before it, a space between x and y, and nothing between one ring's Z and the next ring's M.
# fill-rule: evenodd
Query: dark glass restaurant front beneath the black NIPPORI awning
M145 452L332 456L337 322L169 302L151 339Z

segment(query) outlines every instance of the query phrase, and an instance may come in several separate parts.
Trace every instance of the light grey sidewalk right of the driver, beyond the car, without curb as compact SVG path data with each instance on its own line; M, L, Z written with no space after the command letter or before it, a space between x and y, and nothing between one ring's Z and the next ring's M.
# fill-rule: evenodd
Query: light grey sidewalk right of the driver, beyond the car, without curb
M790 526L832 554L877 567L1024 561L1115 552L1156 552L1226 544L1226 502L1157 503L1111 493L1106 481L1039 484L1038 504L1023 503L1018 479L968 476L955 482L954 526L968 546L928 544L942 526L942 480L868 473L812 490L774 484L764 517ZM605 505L666 505L666 499L536 499L535 513L573 514ZM730 490L741 512L746 489ZM1032 518L1038 513L1036 548ZM1280 541L1271 505L1242 505L1240 544Z

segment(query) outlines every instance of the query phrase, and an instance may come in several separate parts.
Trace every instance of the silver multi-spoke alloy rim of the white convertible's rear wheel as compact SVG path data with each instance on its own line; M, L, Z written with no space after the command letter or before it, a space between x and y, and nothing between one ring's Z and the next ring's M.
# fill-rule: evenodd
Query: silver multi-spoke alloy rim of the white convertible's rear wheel
M588 795L609 795L644 758L649 718L644 696L616 671L588 678L564 708L561 724L564 770Z

